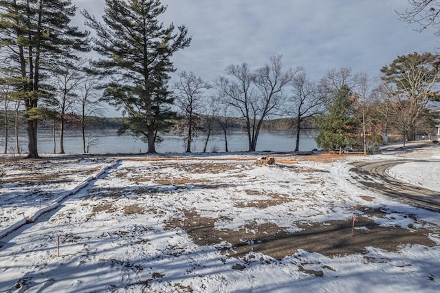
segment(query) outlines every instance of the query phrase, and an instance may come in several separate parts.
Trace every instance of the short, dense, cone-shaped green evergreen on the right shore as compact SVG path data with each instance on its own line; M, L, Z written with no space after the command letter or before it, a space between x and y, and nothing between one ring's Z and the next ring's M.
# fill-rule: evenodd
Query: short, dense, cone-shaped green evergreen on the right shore
M339 153L342 153L345 146L355 143L354 137L358 127L349 86L342 85L326 108L328 113L316 121L320 130L316 143L326 152L339 149Z

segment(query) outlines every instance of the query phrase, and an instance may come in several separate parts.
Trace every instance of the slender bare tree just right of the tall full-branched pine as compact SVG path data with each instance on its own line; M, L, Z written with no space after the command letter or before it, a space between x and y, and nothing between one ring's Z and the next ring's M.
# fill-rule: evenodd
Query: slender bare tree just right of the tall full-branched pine
M191 152L192 139L197 135L199 122L199 111L203 106L203 92L210 88L200 77L195 76L194 72L181 72L179 82L175 83L175 103L179 107L185 119L186 129L186 152Z

